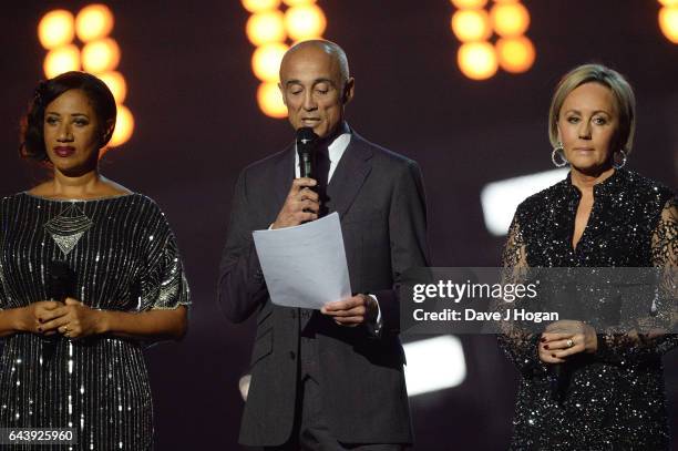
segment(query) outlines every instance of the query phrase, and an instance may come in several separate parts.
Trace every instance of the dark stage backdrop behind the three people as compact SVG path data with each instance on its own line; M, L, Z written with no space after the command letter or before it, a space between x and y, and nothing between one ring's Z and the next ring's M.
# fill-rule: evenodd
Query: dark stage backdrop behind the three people
M54 8L89 2L22 1L0 16L0 195L47 174L18 158L18 124L45 51L37 24ZM215 287L230 196L238 172L282 148L288 123L264 116L250 70L249 16L239 1L110 1L112 37L132 140L111 151L102 172L155 198L178 237L194 306L181 344L148 350L160 450L237 449L243 401L237 380L248 362L250 322L233 326ZM628 167L675 187L678 167L678 45L657 25L650 0L524 1L532 70L499 72L485 82L456 68L449 0L320 0L325 37L349 55L357 80L348 107L363 136L421 163L435 266L496 266L503 238L482 218L480 189L491 181L548 170L546 133L552 90L562 74L602 62L626 74L638 98L638 130ZM8 3L9 4L9 3ZM411 399L420 450L505 449L516 387L513 367L493 337L462 337L463 385ZM440 356L444 359L444 356ZM666 357L674 434L678 433L678 366ZM359 414L359 413L357 413Z

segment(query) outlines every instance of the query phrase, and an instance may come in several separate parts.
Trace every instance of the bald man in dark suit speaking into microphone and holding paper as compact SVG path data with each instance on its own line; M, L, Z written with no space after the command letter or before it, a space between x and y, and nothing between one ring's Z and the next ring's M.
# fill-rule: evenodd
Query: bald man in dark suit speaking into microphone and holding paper
M240 443L276 450L401 450L412 442L397 284L428 266L422 177L345 121L355 81L337 44L306 41L280 65L294 130L320 136L317 180L299 178L295 144L238 177L220 265L219 303L256 314ZM314 187L316 187L314 189ZM271 304L251 232L339 213L351 288L321 310ZM312 252L312 249L309 249Z

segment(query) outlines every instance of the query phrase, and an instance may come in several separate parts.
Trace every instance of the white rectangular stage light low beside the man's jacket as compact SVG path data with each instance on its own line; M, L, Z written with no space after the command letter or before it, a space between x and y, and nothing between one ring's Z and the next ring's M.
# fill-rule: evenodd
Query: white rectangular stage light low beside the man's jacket
M442 336L403 346L408 396L427 393L461 385L466 378L466 360L461 340Z

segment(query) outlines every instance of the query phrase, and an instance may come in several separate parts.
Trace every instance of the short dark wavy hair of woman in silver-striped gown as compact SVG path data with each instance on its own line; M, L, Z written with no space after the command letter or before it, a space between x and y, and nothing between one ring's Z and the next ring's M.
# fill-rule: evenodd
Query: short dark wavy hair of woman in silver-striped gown
M49 162L47 148L44 147L43 123L44 109L54 99L69 90L82 90L96 114L97 122L102 127L100 148L111 141L115 129L115 116L117 107L113 93L106 84L96 76L86 73L71 71L62 73L50 80L41 81L35 88L33 99L29 104L25 116L21 120L21 144L19 154L24 158ZM106 124L113 123L111 129Z

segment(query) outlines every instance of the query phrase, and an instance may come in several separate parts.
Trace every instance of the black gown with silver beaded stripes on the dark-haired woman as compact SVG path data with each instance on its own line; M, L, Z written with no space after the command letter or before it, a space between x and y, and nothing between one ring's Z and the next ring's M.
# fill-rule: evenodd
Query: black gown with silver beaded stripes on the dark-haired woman
M189 304L172 230L157 205L140 194L0 199L0 309L48 299L53 260L74 270L75 297L92 308L135 312ZM48 341L33 334L3 341L0 428L76 429L76 445L38 450L152 448L143 342L112 336Z

